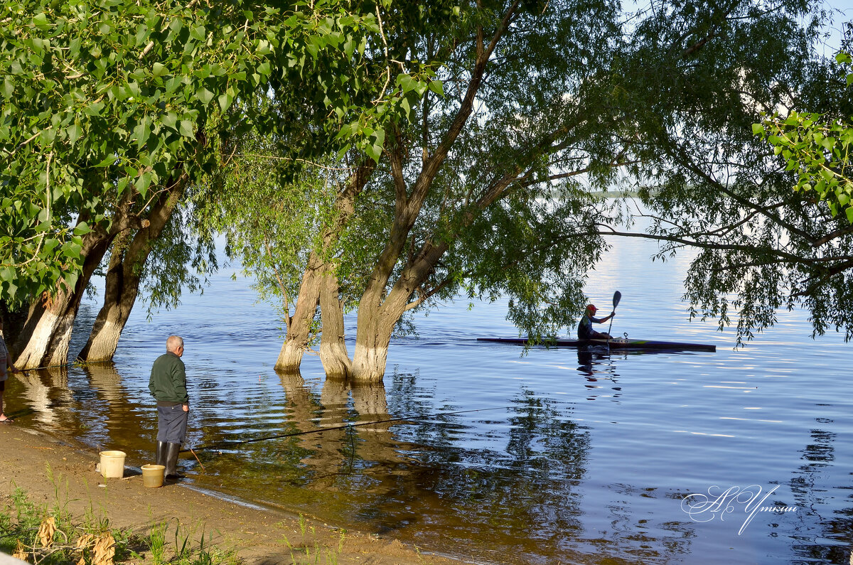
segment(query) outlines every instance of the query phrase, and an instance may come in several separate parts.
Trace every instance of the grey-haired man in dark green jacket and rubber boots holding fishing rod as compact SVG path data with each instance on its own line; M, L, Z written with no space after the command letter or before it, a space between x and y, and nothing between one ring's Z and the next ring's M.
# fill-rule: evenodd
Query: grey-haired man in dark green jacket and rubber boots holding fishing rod
M181 451L187 434L189 394L187 373L183 367L183 338L170 335L165 342L165 353L151 368L148 390L157 400L157 452L158 465L165 465L165 476L181 478L177 472L177 454Z

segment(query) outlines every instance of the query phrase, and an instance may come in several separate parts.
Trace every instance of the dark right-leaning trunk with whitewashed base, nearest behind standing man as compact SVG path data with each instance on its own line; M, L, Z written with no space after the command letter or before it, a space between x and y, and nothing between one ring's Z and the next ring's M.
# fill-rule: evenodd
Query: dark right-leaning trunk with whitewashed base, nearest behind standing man
M154 240L168 223L177 202L183 195L186 178L181 177L165 190L148 215L148 224L131 239L129 230L119 234L113 242L107 270L104 303L95 319L89 340L79 353L81 361L109 361L119 346L119 337L139 294L139 284Z

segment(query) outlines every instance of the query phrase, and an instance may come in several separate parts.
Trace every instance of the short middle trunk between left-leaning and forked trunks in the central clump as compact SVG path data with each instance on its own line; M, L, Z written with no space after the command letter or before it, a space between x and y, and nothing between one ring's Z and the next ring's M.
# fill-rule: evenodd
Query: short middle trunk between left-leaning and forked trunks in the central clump
M338 277L331 271L331 265L328 267L320 291L320 360L327 378L347 379L351 376L352 364L344 341L344 307L339 296Z

